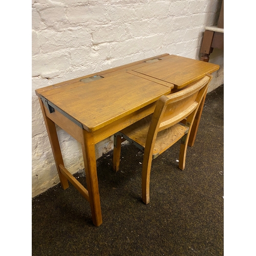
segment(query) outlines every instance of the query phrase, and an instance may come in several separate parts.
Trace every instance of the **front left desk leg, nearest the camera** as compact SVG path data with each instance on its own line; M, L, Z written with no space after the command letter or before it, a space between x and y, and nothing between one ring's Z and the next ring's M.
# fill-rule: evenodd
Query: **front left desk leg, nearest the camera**
M93 134L83 130L82 155L84 169L86 171L86 182L91 206L93 224L102 224L99 186L96 168L95 144Z

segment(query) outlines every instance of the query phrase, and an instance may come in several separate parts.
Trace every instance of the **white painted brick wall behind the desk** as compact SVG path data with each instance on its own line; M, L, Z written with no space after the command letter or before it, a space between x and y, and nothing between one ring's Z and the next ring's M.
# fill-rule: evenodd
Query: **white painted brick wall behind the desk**
M39 101L34 90L163 53L200 58L205 26L216 25L220 0L32 0L32 196L58 183ZM223 51L211 54L209 91L223 84ZM57 129L63 160L83 169L81 148ZM97 158L113 147L96 145Z

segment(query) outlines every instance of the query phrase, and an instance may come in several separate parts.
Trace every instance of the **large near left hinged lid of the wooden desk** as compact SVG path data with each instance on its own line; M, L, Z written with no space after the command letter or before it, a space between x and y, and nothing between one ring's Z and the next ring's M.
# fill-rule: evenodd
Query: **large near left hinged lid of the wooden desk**
M53 108L56 106L62 114L65 113L92 132L169 93L169 87L124 72L89 82L64 84L41 91L40 95Z

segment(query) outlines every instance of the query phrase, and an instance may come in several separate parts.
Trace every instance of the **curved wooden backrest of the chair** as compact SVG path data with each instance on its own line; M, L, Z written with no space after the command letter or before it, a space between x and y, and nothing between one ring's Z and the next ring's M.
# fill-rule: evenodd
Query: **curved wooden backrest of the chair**
M161 96L156 104L148 130L146 145L154 145L157 133L186 119L186 126L193 124L199 105L207 93L212 76L207 74L186 89L167 96Z

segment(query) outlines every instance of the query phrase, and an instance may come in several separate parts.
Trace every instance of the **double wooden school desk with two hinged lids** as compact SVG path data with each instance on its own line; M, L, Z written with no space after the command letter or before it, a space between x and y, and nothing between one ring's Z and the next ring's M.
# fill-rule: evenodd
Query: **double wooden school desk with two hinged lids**
M154 112L162 95L180 90L219 69L200 60L162 54L128 65L37 89L60 184L70 181L91 206L95 226L102 223L95 144ZM204 102L203 102L204 103ZM193 146L203 103L193 125ZM81 143L87 188L65 168L56 125Z

